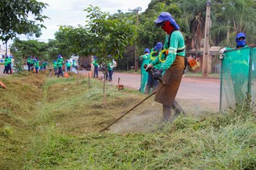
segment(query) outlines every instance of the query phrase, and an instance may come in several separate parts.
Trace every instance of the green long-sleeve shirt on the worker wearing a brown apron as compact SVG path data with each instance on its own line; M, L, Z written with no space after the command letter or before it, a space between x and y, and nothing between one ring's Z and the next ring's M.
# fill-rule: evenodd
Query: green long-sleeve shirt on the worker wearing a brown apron
M163 46L164 49L169 50L169 53L166 56L165 63L161 64L161 69L163 71L165 71L165 70L169 69L169 67L171 67L172 63L174 62L174 60L176 58L176 55L185 57L185 50L183 52L177 53L177 50L185 49L185 41L182 36L182 33L177 30L172 32L171 39L169 41L170 42L169 47L168 47L168 38L169 38L169 35L166 35L165 45ZM165 57L165 55L162 55L162 60L164 57ZM155 58L155 60L151 64L153 64L155 66L158 63L161 63L159 61L159 56L157 56L157 58Z

